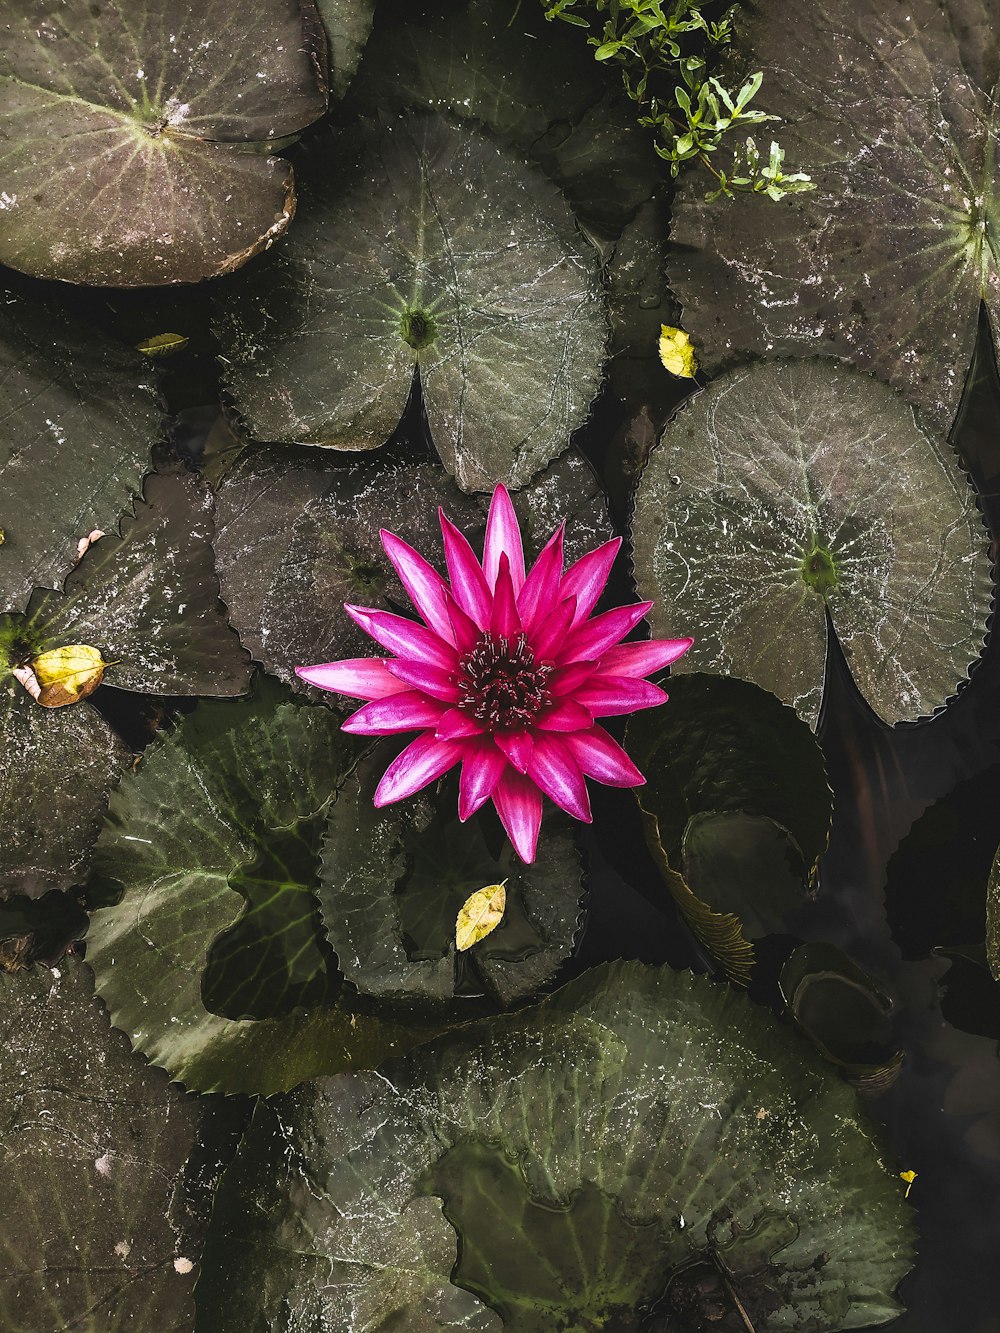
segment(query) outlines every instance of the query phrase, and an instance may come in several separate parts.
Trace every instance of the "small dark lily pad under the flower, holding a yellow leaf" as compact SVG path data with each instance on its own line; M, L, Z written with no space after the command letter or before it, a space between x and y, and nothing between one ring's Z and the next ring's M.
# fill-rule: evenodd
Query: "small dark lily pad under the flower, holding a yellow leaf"
M323 846L323 918L348 981L363 994L432 1005L536 994L569 956L581 920L580 857L567 822L548 818L539 858L524 865L507 838L489 837L485 814L459 822L453 784L376 810L379 776L344 784ZM459 909L500 882L503 921L457 953Z

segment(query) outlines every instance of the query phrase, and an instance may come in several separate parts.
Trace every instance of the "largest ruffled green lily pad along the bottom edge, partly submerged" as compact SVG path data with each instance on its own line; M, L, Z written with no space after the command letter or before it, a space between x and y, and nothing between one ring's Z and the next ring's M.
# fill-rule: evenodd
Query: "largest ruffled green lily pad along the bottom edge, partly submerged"
M704 1326L705 1272L720 1328L736 1292L755 1328L833 1333L895 1318L912 1262L852 1089L728 986L639 964L259 1108L213 1222L223 1333Z

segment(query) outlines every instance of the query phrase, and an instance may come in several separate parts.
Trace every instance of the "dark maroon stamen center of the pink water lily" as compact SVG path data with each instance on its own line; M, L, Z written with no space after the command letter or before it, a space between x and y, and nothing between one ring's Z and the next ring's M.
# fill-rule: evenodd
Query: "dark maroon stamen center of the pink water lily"
M535 661L524 635L511 643L485 633L459 663L459 708L495 730L515 730L548 702L551 674L551 666Z

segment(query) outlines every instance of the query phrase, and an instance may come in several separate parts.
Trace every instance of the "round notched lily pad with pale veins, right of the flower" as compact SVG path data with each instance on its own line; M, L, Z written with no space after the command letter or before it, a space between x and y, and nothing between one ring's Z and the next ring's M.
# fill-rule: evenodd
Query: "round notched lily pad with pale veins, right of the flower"
M827 623L887 722L943 708L979 657L985 531L945 444L829 361L716 380L664 432L635 501L636 580L677 670L740 676L815 726Z

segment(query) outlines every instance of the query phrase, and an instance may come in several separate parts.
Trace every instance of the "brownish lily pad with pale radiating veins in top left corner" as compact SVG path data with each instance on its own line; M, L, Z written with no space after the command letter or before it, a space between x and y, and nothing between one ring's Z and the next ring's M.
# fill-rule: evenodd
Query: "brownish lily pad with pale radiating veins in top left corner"
M113 287L239 268L295 212L271 152L325 111L311 0L4 7L0 261Z

